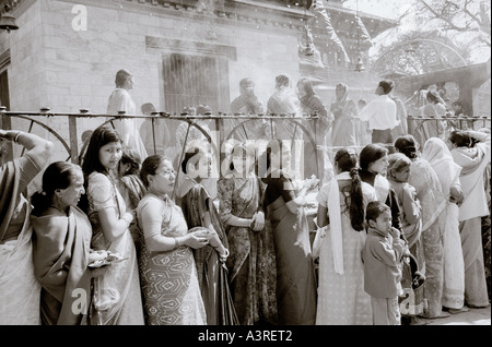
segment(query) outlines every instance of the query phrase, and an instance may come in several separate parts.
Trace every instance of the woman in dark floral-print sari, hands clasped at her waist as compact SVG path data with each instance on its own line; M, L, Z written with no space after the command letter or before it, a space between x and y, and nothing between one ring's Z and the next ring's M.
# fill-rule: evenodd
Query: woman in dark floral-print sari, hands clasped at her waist
M231 255L230 287L242 325L276 324L276 254L272 230L265 220L265 184L255 175L255 149L232 152L230 170L218 181L219 212Z

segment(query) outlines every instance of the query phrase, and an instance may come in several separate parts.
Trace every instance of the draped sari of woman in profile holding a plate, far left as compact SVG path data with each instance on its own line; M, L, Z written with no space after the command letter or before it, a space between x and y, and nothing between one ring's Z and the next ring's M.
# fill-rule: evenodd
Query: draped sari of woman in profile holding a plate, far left
M87 216L70 206L68 216L32 215L31 220L34 272L43 287L43 324L85 325L91 292L87 254L92 227Z

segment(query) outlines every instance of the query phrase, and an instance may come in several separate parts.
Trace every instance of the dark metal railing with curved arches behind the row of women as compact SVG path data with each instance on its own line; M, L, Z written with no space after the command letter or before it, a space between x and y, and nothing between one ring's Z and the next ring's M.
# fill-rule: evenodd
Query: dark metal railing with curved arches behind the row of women
M188 116L188 115L171 115L165 111L154 112L150 116L142 116L142 115L126 115L125 112L119 112L118 115L107 115L107 113L91 113L86 109L81 109L78 113L69 113L69 112L50 112L49 109L40 109L38 112L24 112L24 111L7 111L5 107L0 107L0 125L2 129L9 130L11 128L11 119L23 119L28 121L27 129L20 129L23 131L32 132L33 127L37 124L38 127L47 130L50 134L52 134L61 144L61 147L67 152L67 159L71 160L74 164L80 164L81 157L86 148L86 145L89 144L89 139L86 139L83 143L81 148L79 148L79 130L78 130L78 119L80 118L102 118L104 121L97 125L104 125L104 124L110 124L113 128L115 128L114 121L130 118L130 119L150 119L152 124L152 143L153 143L153 149L154 153L156 153L156 141L155 141L155 121L156 120L176 120L180 122L188 123L187 127L187 133L185 137L185 144L181 148L180 157L183 157L184 152L186 151L186 140L189 133L189 130L191 127L197 128L203 136L207 139L207 141L212 145L213 151L218 151L216 153L220 153L221 145L224 140L234 137L235 134L247 127L248 122L253 122L256 120L262 120L270 127L270 133L273 133L273 123L277 121L289 121L292 122L295 127L295 129L300 130L304 136L304 140L307 140L313 148L316 148L315 155L316 155L316 171L318 172L318 177L323 177L323 167L319 165L319 156L321 155L323 151L328 152L329 154L333 154L335 151L340 148L340 146L329 146L327 148L324 148L319 144L318 139L318 123L319 120L318 115L304 115L302 117L295 117L294 115L229 115L229 113L219 113L219 115L209 115L209 116ZM46 119L50 118L67 118L68 119L68 129L63 129L63 133L59 133L55 129L52 129L50 125L48 125L48 121ZM45 121L43 121L45 119ZM215 139L212 139L208 131L203 129L198 120L208 120L211 121L214 124L215 131L219 132L219 141L214 141ZM314 129L314 131L311 131L306 127L307 122L314 122L313 127L309 127ZM224 123L230 122L229 129L231 129L227 133L225 132ZM425 117L425 116L412 116L409 115L407 118L408 123L408 133L412 134L418 139L419 142L421 142L421 145L423 145L423 142L427 140L430 136L435 135L427 132L426 124L433 124L434 129L436 130L437 135L444 135L445 132L448 132L453 129L469 129L469 128L477 128L477 124L479 127L488 128L490 129L491 118L488 117ZM67 134L68 131L68 134ZM68 136L67 136L68 135ZM248 140L269 140L269 139L248 139ZM291 139L294 140L294 139ZM354 146L359 148L360 146ZM360 148L359 148L360 149ZM12 151L10 151L12 153ZM323 155L321 155L323 156Z

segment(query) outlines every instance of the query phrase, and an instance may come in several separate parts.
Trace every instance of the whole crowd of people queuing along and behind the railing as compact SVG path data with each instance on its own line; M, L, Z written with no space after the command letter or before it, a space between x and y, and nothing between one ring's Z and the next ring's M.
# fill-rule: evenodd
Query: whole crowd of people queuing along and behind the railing
M297 152L282 141L303 140L308 121L235 127L225 161L186 128L152 129L163 143L149 146L132 119L92 131L81 165L51 161L48 140L0 130L0 155L7 141L26 149L0 167L0 324L400 325L488 307L490 131L419 143L390 81L362 109L347 84L330 107L308 80L297 93L291 84L276 79L267 113L320 117L316 148L336 148L323 180L312 167L296 179ZM131 113L131 74L116 86L108 115ZM254 86L241 81L233 112L263 111ZM163 134L183 137L180 151ZM225 169L211 180L216 160Z

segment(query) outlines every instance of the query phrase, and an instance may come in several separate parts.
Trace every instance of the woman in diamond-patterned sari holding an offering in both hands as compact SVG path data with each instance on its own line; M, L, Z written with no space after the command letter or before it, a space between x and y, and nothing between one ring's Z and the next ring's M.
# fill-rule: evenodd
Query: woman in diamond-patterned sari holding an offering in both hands
M207 246L213 235L204 228L188 231L181 208L169 198L176 182L169 159L145 158L140 178L147 187L137 208L143 236L140 272L147 324L207 324L191 249Z

